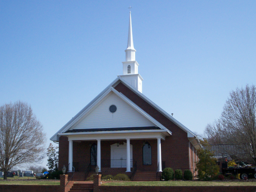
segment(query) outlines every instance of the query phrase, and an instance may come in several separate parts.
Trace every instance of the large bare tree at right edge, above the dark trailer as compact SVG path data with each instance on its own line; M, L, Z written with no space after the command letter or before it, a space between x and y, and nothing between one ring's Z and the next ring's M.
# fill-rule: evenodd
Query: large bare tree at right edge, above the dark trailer
M229 96L221 114L223 138L244 153L244 159L256 163L255 85L236 88Z

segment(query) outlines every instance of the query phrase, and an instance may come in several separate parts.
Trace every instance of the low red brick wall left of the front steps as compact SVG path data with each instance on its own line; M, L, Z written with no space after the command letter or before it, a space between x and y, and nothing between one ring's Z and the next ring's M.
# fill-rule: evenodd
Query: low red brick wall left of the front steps
M59 192L59 185L0 185L0 191L3 192Z

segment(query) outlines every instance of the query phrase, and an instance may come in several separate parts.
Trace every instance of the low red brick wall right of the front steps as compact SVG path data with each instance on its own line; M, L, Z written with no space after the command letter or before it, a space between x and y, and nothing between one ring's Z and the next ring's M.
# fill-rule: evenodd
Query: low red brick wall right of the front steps
M256 186L99 186L101 192L254 192Z

